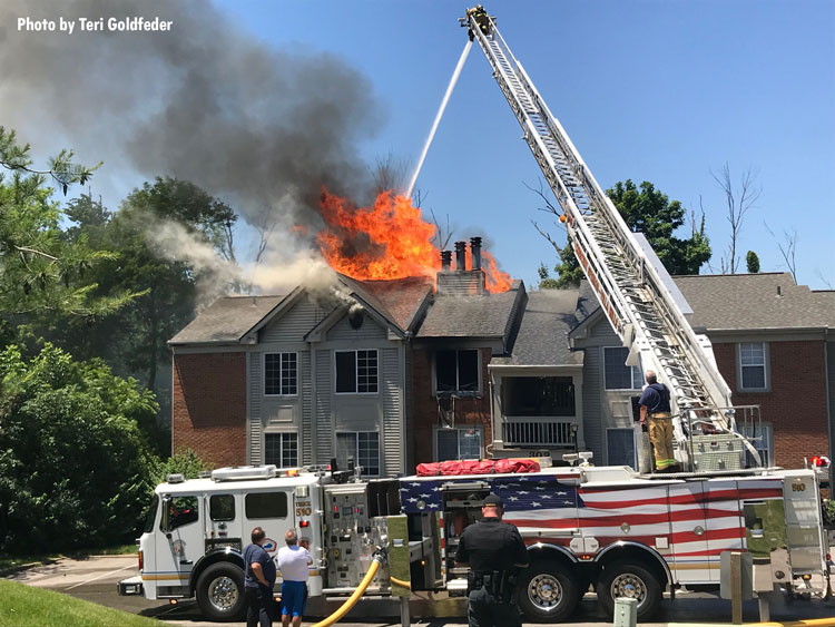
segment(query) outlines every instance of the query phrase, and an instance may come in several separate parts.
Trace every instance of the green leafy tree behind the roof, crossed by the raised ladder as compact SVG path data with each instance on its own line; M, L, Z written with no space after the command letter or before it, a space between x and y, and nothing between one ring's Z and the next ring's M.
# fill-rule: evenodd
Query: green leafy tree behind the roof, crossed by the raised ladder
M536 190L534 190L536 192ZM666 194L655 188L649 182L637 187L630 179L618 182L615 187L607 189L615 207L623 217L627 226L636 233L642 233L664 266L672 275L698 274L699 268L710 258L710 243L705 234L705 216L698 225L691 215L690 236L681 238L676 232L685 226L686 210L680 202L670 200ZM540 196L543 194L540 193ZM543 196L544 197L544 196ZM548 200L543 210L559 215L560 212ZM577 285L583 278L583 272L577 262L571 242L560 246L538 225L539 232L553 245L559 256L554 265L557 273L553 283L544 287L569 287Z

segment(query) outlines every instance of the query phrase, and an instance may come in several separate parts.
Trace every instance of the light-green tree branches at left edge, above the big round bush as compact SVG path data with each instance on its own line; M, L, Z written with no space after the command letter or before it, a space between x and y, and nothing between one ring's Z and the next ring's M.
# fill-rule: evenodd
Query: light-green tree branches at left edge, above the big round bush
M129 292L94 294L90 270L112 259L107 249L92 249L86 238L68 242L60 228L65 216L49 177L65 194L73 183L85 183L95 168L76 166L72 153L62 150L49 169L32 168L29 145L20 146L13 131L0 127L0 316L33 312L95 317L111 313L130 298ZM98 166L97 166L98 167Z

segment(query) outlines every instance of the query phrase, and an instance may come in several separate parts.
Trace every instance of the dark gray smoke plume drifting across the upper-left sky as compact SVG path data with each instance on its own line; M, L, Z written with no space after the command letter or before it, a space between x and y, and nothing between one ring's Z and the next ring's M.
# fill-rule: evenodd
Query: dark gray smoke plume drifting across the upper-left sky
M21 17L134 16L171 31L18 30ZM267 47L208 2L4 0L0 68L0 125L105 159L94 185L130 170L143 175L130 187L185 178L244 217L281 212L283 225L317 224L322 185L371 193L356 150L382 124L370 81L333 55Z

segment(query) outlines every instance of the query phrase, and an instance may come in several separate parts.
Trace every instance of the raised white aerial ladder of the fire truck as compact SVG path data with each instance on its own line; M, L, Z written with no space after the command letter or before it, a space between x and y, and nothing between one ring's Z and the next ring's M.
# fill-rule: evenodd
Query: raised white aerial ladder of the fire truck
M511 52L495 18L478 6L460 22L484 52L522 127L563 212L560 222L577 259L611 327L630 351L627 364L654 370L670 389L677 460L691 471L704 469L691 439L698 431L737 441L760 466L756 448L737 430L730 389L716 366L710 341L685 319L659 271Z

